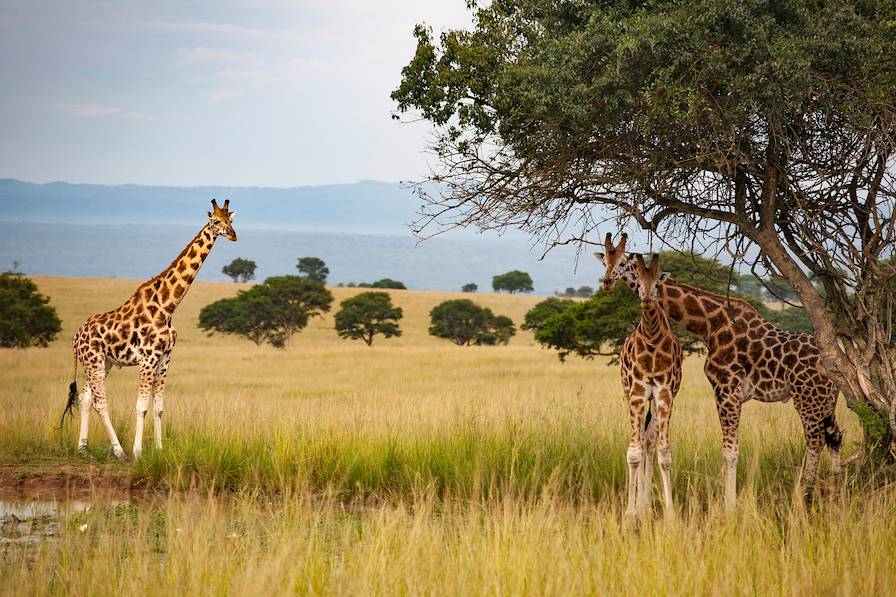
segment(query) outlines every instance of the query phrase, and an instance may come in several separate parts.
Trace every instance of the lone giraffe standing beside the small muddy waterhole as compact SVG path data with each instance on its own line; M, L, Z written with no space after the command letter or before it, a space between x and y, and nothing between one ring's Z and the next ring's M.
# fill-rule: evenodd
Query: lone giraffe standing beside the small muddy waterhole
M171 265L158 276L141 284L123 305L107 313L92 315L78 328L72 340L74 373L69 386L68 403L63 413L71 415L75 404L81 411L78 450L87 450L87 427L93 407L112 441L112 451L126 460L124 450L115 435L106 404L106 376L113 365L139 367L140 385L137 392L137 424L134 433L134 458L143 452L143 421L153 401L155 444L162 447L162 410L165 376L171 361L171 349L177 331L171 325L171 315L190 289L199 268L208 257L219 236L236 240L233 231L235 212L228 210L230 200L222 207L212 199L208 224L190 241ZM84 368L87 385L78 394L78 364Z

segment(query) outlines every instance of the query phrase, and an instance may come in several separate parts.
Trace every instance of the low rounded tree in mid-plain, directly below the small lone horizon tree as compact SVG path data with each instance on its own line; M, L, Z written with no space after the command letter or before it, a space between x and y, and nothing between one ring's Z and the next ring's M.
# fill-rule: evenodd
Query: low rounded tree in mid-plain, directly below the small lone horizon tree
M507 344L516 333L513 321L469 299L454 299L430 311L429 333L459 346Z

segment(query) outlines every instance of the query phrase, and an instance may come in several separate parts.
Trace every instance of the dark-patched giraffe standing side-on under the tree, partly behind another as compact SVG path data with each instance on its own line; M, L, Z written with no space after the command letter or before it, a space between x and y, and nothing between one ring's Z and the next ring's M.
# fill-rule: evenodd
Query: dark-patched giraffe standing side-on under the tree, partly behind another
M604 240L605 252L595 253L604 263L603 288L622 280L637 288L635 257L626 253L625 234L614 246L612 235ZM693 286L672 278L659 287L660 306L706 346L703 370L716 397L722 427L722 456L725 460L725 507L735 508L737 493L738 427L741 407L747 400L787 402L793 399L803 425L806 456L802 481L811 488L824 446L831 452L831 468L840 473L842 433L834 409L837 390L824 373L815 336L781 330L749 303Z

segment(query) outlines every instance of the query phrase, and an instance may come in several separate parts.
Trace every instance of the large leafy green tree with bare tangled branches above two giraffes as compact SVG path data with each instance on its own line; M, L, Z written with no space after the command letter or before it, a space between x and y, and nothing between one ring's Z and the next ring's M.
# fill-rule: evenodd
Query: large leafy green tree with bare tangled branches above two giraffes
M727 250L793 287L896 438L896 3L495 0L415 36L393 99L436 129L420 227L552 244L615 216Z

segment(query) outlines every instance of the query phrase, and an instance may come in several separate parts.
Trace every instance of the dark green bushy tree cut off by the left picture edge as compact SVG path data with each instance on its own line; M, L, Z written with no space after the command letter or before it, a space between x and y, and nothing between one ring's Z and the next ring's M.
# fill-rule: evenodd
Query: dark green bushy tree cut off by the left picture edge
M62 331L50 299L22 274L0 274L0 347L46 346Z

